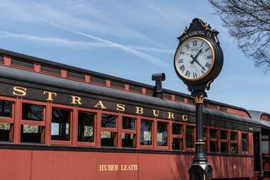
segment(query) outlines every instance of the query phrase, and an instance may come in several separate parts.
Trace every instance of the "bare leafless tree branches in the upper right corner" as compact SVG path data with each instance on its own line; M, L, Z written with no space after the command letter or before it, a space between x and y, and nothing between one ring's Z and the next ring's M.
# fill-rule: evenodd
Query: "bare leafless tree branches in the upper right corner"
M270 72L270 0L208 0L255 66Z

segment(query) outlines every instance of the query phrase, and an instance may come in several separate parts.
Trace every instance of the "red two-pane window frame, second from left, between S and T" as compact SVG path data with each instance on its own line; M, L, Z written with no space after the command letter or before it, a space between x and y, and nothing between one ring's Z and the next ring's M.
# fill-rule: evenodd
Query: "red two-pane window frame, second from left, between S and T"
M28 119L23 119L23 103L25 104L33 104L37 106L43 106L43 120L28 120ZM43 103L40 101L30 101L26 99L22 99L20 103L20 121L21 121L21 134L20 134L20 142L21 143L40 143L40 144L45 144L45 119L46 119L46 108L47 108L47 103ZM28 132L24 130L25 127L28 127ZM30 128L32 127L32 128ZM35 132L35 128L37 127L38 134L40 134L40 142L37 142L37 140L22 140L23 138L28 139L28 138L34 138L34 135L31 135L32 133L37 133ZM29 135L23 135L29 134ZM28 136L28 137L27 137Z

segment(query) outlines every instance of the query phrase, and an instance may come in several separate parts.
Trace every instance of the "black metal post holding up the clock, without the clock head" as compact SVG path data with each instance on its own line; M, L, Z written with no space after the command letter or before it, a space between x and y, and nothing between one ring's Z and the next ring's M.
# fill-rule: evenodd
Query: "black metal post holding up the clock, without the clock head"
M190 180L211 180L212 167L208 164L203 139L203 96L195 96L196 103L196 152L189 167Z

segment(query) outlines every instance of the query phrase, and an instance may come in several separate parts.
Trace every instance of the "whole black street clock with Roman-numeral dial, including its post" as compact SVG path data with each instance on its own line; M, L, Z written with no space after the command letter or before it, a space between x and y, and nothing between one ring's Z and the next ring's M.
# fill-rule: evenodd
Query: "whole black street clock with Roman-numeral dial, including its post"
M188 169L190 180L212 180L213 169L208 163L203 137L203 99L223 67L223 51L217 36L217 30L194 18L178 38L174 55L176 74L188 86L196 104L196 152Z

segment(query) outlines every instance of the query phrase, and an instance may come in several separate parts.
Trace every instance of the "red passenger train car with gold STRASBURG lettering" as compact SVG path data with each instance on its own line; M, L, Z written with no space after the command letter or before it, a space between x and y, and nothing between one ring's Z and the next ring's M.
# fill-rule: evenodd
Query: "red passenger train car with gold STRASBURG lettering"
M0 86L1 179L189 179L196 132L186 94L164 89L159 99L154 86L7 50ZM213 179L265 179L266 120L204 106Z

